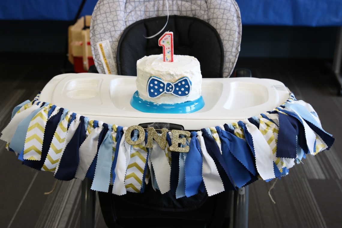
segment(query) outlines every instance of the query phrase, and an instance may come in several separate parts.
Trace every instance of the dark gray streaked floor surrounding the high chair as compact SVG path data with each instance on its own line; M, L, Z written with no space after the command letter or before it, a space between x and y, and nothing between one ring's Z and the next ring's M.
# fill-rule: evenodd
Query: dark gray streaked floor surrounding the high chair
M24 57L23 57L24 56ZM0 130L10 120L14 106L34 96L60 73L59 55L2 55L0 58ZM337 82L322 72L323 60L243 59L237 67L252 70L253 77L282 81L297 99L310 103L323 128L336 141L329 151L308 156L295 165L271 191L273 182L250 185L249 227L342 227L342 97ZM22 165L0 142L0 227L79 227L80 182L59 181L52 173ZM96 205L96 227L106 227Z

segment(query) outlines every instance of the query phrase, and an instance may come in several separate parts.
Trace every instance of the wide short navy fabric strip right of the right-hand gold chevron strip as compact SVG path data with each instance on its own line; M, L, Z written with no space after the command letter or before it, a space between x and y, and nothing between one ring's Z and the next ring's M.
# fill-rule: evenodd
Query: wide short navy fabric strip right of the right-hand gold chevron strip
M278 113L279 132L277 141L278 158L297 157L297 131L283 113Z

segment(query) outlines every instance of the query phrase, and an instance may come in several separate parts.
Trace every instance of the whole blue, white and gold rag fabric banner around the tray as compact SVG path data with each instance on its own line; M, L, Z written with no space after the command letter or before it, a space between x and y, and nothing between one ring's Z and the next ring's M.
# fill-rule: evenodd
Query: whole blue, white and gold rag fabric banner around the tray
M176 198L199 191L213 196L257 179L281 178L302 163L305 154L316 155L334 142L312 106L292 93L273 110L238 123L218 124L179 135L188 152L170 149L171 132L166 134L165 148L155 140L147 148L145 132L141 136L138 130L128 131L133 142L141 142L130 145L125 139L128 126L89 120L39 101L38 94L14 108L0 139L23 164L54 172L56 179L91 178L92 190L108 192L113 185L116 195L143 192L150 184Z

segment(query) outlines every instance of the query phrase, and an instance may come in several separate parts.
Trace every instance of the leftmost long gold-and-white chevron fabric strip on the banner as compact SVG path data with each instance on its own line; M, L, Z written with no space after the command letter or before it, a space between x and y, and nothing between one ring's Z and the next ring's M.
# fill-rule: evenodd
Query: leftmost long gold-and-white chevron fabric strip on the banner
M48 121L48 112L51 106L52 104L49 104L42 108L29 123L24 145L25 160L39 161L41 158L45 125Z

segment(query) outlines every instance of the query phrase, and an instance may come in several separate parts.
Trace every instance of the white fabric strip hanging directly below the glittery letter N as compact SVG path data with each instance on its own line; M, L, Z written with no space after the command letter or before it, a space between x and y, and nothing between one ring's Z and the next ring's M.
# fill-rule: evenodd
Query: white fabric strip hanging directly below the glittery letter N
M171 166L165 151L160 148L156 141L153 141L153 148L150 148L150 158L159 190L161 194L164 194L170 191Z

